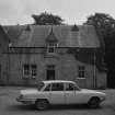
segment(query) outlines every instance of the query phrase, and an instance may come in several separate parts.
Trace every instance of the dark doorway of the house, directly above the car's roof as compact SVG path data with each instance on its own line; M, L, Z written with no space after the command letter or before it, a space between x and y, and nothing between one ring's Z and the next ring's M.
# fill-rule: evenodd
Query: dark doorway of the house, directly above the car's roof
M47 66L47 80L55 80L55 66Z

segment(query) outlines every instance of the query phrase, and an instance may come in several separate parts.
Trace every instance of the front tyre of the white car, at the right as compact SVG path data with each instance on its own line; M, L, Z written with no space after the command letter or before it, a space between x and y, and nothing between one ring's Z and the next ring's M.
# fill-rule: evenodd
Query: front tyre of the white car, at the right
M88 105L90 106L90 108L97 108L100 106L100 99L97 97L91 99Z

